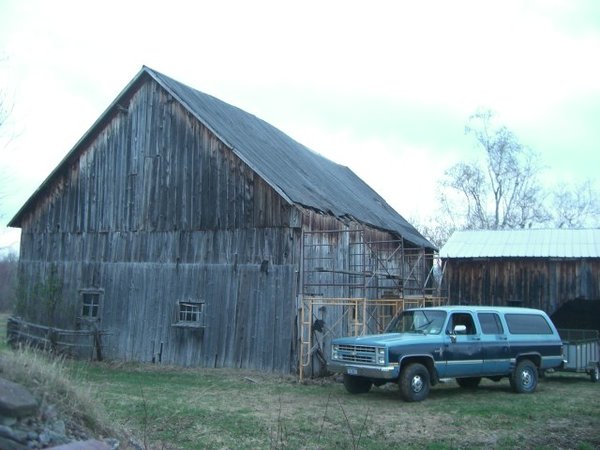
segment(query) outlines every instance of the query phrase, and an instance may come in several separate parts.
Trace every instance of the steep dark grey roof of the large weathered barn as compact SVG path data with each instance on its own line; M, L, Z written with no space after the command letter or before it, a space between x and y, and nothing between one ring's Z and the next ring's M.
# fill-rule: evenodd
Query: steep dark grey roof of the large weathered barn
M341 219L354 219L397 233L414 245L434 248L348 167L315 153L252 114L145 66L25 203L9 226L19 226L22 215L35 205L36 196L57 176L61 166L85 147L96 128L119 107L121 99L127 98L133 86L147 76L167 90L289 203Z

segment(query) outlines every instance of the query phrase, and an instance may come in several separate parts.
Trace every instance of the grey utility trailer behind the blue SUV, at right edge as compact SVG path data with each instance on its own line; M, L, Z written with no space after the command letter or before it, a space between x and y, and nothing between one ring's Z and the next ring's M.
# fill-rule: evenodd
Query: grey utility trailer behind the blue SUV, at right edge
M561 370L587 373L596 383L600 380L600 338L597 330L559 329L563 340L563 358L566 361Z

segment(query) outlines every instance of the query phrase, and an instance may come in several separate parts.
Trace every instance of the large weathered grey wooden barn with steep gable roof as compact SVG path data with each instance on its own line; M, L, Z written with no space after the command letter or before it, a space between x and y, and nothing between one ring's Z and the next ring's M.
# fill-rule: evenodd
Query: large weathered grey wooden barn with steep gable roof
M432 244L350 169L147 67L9 225L13 337L74 354L294 373L431 296Z

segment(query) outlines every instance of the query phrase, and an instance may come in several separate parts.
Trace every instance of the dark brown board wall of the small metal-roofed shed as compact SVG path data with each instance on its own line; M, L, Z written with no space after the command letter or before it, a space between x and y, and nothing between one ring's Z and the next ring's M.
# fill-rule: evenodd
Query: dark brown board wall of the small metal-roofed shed
M451 303L515 304L552 314L569 300L600 299L600 260L450 259L444 281Z

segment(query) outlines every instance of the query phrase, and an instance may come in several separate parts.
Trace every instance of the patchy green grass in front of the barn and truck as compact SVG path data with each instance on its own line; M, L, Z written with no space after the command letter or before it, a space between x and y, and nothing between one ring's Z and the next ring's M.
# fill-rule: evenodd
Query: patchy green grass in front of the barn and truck
M506 380L476 390L452 381L422 403L405 403L392 385L354 396L334 379L299 384L239 370L66 364L74 383L91 389L110 420L145 448L600 447L600 384L585 375L549 375L532 395L512 393Z

